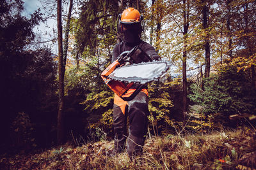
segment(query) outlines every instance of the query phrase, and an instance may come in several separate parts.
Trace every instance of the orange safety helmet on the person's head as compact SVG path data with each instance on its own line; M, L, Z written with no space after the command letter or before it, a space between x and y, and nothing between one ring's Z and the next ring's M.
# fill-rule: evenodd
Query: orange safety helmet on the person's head
M123 24L134 24L143 20L143 15L134 8L127 8L123 11L122 15L119 15L120 23Z

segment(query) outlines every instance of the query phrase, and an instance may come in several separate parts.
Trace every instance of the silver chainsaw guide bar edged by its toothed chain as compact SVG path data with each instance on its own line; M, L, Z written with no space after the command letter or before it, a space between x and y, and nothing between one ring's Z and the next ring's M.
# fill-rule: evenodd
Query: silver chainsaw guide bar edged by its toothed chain
M159 60L152 62L141 62L116 68L108 78L125 83L145 84L150 81L157 81L163 77L170 68L171 63L168 60Z

